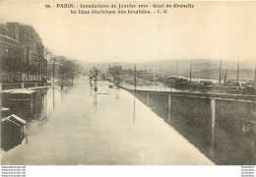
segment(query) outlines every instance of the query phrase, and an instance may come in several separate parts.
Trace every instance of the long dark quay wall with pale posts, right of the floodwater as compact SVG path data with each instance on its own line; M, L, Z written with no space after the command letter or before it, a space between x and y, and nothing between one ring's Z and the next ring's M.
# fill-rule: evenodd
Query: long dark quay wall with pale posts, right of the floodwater
M135 93L134 89L126 89ZM200 92L136 90L136 97L159 112L160 117L178 115L186 121L240 133L256 134L256 96Z

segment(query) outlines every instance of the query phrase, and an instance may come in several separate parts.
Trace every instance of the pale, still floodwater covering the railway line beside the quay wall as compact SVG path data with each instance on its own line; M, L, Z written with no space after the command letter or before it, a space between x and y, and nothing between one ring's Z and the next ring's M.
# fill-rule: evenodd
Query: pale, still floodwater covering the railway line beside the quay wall
M198 148L150 107L123 89L88 77L39 96L32 110L14 112L28 123L25 138L1 150L3 165L208 165Z

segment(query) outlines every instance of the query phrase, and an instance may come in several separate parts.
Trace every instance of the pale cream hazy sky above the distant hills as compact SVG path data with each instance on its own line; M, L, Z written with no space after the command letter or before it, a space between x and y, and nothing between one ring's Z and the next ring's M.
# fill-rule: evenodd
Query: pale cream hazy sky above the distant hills
M256 2L169 2L195 8L165 15L72 15L45 2L2 0L0 23L31 25L55 55L85 62L256 60Z

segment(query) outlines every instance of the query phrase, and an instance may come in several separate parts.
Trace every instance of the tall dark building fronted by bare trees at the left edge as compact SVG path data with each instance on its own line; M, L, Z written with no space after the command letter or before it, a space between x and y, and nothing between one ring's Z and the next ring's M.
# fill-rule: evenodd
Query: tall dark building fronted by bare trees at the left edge
M32 26L19 23L1 24L0 35L0 50L4 51L0 58L3 67L2 81L6 83L42 81L46 65L44 46ZM11 78L6 78L7 75Z

